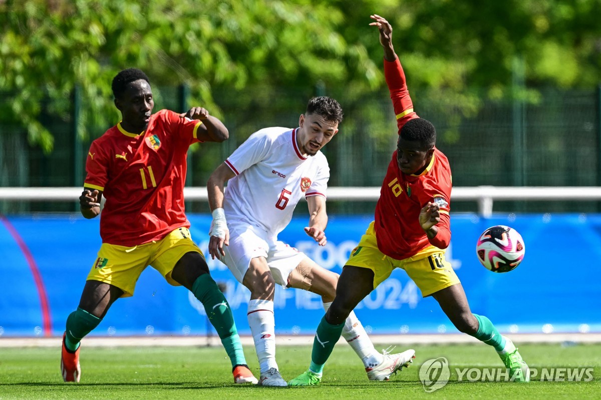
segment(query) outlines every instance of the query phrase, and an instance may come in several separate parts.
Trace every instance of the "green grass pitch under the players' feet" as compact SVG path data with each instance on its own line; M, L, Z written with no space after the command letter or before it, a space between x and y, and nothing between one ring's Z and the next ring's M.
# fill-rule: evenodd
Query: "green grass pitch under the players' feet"
M337 345L318 387L270 389L233 384L221 347L85 348L79 384L63 383L60 348L0 348L0 399L598 399L601 396L601 344L528 344L520 353L531 368L591 367L592 381L467 382L451 374L449 383L426 393L419 367L445 357L454 368L490 366L501 361L486 345L416 345L416 359L388 382L367 380L362 363L347 345ZM396 351L405 348L397 347ZM254 349L246 359L258 377ZM305 371L308 346L279 346L279 369L290 380ZM586 375L585 375L586 376Z

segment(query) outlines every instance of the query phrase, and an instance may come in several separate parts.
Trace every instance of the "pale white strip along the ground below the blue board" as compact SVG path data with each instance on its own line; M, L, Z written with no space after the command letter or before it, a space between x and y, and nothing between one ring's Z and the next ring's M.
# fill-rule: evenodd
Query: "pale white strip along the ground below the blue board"
M601 333L514 333L508 335L518 344L523 343L601 343ZM478 339L462 333L445 335L370 335L375 345L408 344L474 344ZM252 336L240 336L243 345L252 346ZM151 346L221 346L218 336L88 336L85 347L151 347ZM344 342L340 338L339 342ZM276 336L278 345L312 345L313 336ZM61 338L13 338L0 337L0 348L8 347L59 347Z

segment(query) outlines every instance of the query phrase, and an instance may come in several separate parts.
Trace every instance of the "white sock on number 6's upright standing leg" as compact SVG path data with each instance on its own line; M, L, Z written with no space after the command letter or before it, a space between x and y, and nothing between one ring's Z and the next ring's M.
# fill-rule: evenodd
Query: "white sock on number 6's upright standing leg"
M278 369L275 362L275 318L271 300L250 300L248 302L248 324L259 359L261 374L270 368Z

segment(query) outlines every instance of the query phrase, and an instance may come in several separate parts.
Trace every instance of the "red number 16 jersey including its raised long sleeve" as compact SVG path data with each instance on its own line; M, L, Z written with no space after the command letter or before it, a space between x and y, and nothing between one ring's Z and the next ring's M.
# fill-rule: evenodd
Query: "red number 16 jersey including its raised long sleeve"
M413 103L405 82L403 67L398 58L384 61L384 74L390 91L398 133L407 121L419 118L413 112ZM412 257L430 245L447 248L451 240L450 228L451 169L447 157L435 148L432 160L419 175L406 175L398 169L397 151L392 154L388 170L376 204L377 245L383 254L397 260ZM419 212L429 202L440 207L441 221L438 233L428 239L419 225Z

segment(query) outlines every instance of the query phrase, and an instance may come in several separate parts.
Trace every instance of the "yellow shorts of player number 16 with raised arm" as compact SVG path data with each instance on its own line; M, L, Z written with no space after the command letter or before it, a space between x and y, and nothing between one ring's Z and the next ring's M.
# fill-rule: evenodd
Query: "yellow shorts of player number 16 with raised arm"
M374 289L390 276L392 270L402 268L419 287L423 297L459 283L453 267L445 260L445 251L435 246L429 246L404 260L396 260L383 254L377 248L374 222L371 222L365 234L361 236L346 265L373 270Z

